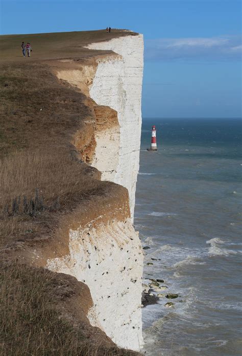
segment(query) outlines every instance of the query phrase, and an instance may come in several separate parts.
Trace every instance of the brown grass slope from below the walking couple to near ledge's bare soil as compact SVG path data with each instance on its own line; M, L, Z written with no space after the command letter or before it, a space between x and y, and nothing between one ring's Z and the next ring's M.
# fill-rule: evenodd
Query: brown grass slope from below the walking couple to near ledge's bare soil
M105 188L71 144L92 111L43 65L3 66L0 93L0 243L46 238L59 213ZM36 192L42 205L28 213Z

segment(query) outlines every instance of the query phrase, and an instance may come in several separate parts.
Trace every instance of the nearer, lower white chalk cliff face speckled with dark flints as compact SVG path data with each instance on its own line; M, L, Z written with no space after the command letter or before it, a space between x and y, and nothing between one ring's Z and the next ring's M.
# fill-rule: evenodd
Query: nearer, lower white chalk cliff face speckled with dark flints
M69 249L68 257L49 261L49 269L87 284L94 305L90 323L118 346L139 350L143 255L130 220L70 230Z

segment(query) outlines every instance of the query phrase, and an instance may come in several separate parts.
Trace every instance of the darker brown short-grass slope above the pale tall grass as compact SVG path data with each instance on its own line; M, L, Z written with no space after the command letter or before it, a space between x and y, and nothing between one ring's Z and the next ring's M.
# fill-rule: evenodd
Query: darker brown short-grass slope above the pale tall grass
M72 135L83 118L91 115L85 96L60 85L43 64L3 65L0 96L2 157L12 150L46 145L69 151Z

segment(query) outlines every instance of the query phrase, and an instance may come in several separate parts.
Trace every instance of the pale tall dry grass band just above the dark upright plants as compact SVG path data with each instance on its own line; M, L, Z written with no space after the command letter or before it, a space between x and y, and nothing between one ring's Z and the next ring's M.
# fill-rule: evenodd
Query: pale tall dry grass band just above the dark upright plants
M101 186L100 182L85 175L86 166L58 152L24 151L2 160L0 169L2 208L15 197L28 199L38 190L44 205L51 206L59 198L64 208L70 201L80 200L83 194ZM11 208L11 207L10 207Z

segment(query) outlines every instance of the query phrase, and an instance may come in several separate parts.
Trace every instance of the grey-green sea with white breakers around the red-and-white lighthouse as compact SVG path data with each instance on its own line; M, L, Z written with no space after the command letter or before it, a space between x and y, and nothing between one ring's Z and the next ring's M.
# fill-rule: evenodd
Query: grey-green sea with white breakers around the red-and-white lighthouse
M242 354L241 136L240 119L143 119L134 224L143 283L164 280L142 309L146 355Z

